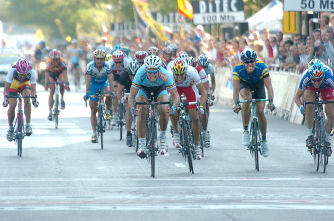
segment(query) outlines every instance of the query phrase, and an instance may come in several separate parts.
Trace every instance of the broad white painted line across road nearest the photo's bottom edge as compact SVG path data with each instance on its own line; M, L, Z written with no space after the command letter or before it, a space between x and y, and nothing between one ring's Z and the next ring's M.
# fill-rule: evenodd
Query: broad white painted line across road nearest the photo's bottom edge
M161 205L161 206L46 206L0 207L0 211L47 211L47 210L334 210L334 205Z

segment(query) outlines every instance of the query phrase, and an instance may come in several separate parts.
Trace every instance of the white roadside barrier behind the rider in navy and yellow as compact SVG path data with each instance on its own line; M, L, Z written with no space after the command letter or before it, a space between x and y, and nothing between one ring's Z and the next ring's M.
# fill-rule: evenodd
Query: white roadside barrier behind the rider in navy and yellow
M290 72L270 71L271 84L274 90L274 104L276 109L270 112L266 107L266 114L271 114L289 120L293 124L302 124L303 115L294 104L294 95L302 79L301 74ZM229 68L215 68L216 89L215 102L219 105L233 107L232 73ZM268 96L268 92L266 91Z

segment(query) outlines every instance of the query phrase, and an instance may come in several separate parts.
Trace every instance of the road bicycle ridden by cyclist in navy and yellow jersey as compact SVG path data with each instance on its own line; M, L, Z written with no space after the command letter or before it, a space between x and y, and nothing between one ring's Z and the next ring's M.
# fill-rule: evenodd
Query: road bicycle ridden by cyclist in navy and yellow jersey
M254 91L252 92L252 97L254 97ZM261 132L259 130L258 126L258 120L256 115L256 103L257 102L269 102L269 105L272 104L272 98L269 96L269 99L249 99L244 101L238 101L238 98L236 99L236 106L238 106L240 103L252 103L252 111L251 111L251 118L250 118L250 145L247 147L247 150L250 150L250 153L252 157L255 159L255 169L258 171L258 153L262 155L261 152ZM240 106L241 110L241 106Z

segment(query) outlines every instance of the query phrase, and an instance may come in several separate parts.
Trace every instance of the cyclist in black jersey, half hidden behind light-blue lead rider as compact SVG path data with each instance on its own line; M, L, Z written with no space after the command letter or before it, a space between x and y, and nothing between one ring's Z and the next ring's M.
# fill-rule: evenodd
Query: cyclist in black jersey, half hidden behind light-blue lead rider
M132 81L137 73L140 65L137 61L130 62L126 68L124 68L121 72L121 76L119 78L119 85L117 88L117 98L123 101L122 92L124 89L129 92L131 89ZM127 99L123 101L126 105L125 112L125 123L126 123L126 146L132 147L132 134L131 134L131 126L132 126L132 114L130 113L130 107L127 103Z

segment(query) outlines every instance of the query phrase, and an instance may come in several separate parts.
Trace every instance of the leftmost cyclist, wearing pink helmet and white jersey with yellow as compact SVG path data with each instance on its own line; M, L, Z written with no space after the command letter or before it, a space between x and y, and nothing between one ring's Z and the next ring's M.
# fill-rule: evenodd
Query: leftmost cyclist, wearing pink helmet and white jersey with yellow
M4 98L5 94L15 96L17 95L17 90L21 90L23 96L34 96L36 94L36 73L29 62L20 58L11 65L8 70L6 77L6 83L4 88ZM7 112L9 130L7 132L7 139L12 141L14 139L14 127L13 121L15 118L15 108L16 108L16 98L9 97L7 103L3 102L3 106L7 107L9 104L9 109ZM30 127L30 115L31 115L31 104L29 98L23 98L24 101L24 114L26 116L26 135L30 136L32 134L32 129ZM32 105L38 107L38 103L35 99L32 99Z

